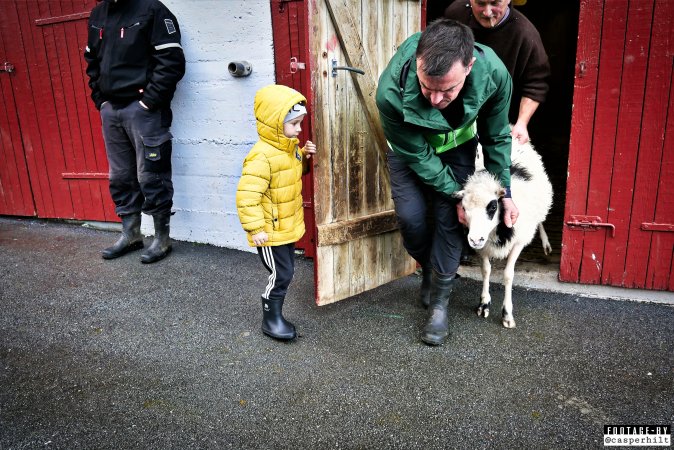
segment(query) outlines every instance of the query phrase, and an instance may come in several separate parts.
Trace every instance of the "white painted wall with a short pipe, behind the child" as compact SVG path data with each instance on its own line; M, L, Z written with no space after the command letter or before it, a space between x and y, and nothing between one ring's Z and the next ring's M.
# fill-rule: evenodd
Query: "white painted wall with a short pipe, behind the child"
M173 239L251 250L236 214L243 159L257 140L255 92L275 80L269 0L162 0L187 60L173 100ZM235 78L233 61L250 76ZM152 218L143 232L153 234Z

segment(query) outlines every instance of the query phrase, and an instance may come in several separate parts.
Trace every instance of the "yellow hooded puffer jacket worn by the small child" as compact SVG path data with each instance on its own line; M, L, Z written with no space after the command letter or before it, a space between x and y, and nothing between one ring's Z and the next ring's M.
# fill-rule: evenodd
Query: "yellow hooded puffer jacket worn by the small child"
M243 162L236 191L236 208L248 243L264 231L264 246L297 242L304 235L302 159L299 139L283 134L283 119L293 105L306 102L299 92L282 85L263 87L255 94L259 140Z

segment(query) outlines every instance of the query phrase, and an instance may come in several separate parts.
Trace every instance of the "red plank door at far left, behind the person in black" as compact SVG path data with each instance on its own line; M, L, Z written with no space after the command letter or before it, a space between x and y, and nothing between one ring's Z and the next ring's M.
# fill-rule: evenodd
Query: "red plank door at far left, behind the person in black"
M12 73L0 73L3 214L117 220L82 57L95 4L0 2L0 57L13 66ZM6 158L10 153L13 158Z

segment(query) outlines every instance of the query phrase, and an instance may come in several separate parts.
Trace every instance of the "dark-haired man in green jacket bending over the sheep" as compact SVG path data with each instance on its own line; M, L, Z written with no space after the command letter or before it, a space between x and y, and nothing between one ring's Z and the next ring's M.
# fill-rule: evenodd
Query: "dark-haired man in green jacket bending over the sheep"
M511 91L496 54L475 44L467 26L448 19L408 38L379 79L391 191L405 249L422 267L420 297L429 313L421 339L430 345L449 334L447 305L463 245L452 194L475 171L478 136L485 167L507 187L505 222L517 220L509 195Z

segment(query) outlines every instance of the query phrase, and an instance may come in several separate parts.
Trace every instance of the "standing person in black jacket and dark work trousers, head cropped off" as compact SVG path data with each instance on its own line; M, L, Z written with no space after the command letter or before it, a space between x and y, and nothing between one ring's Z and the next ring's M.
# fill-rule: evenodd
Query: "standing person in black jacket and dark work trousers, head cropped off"
M122 236L103 250L113 259L143 247L140 214L155 236L143 263L171 251L171 100L185 74L180 28L158 0L99 0L89 17L84 59L91 98L101 112L110 194Z

